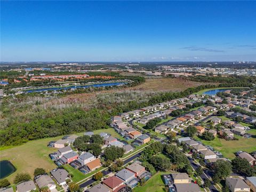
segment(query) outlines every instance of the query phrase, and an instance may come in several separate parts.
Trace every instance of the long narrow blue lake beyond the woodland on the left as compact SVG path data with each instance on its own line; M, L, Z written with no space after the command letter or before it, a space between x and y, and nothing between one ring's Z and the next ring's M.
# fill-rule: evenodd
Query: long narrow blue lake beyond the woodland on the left
M26 93L33 93L33 92L42 92L42 91L55 91L55 90L68 90L68 89L77 89L77 88L88 88L88 87L102 87L102 86L117 86L117 85L124 85L127 82L114 82L114 83L99 83L99 84L91 84L91 85L73 85L73 86L65 86L65 87L49 87L49 88L42 88L42 89L34 89L34 90L27 90Z

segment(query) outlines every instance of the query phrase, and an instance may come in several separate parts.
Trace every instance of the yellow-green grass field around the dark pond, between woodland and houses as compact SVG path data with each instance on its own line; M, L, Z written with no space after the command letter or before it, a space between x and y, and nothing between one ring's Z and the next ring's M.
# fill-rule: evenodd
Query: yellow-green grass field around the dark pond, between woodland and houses
M102 129L94 131L95 134L100 132L107 132L113 135L113 137L124 140L114 129ZM77 133L77 135L83 135L83 133ZM12 146L3 148L0 151L1 160L9 160L16 167L17 171L9 175L7 179L13 182L13 179L17 173L27 172L33 177L34 170L37 167L43 167L47 172L57 167L48 156L50 153L57 151L55 148L47 147L50 141L56 141L63 136L55 138L39 139L29 141L21 146Z

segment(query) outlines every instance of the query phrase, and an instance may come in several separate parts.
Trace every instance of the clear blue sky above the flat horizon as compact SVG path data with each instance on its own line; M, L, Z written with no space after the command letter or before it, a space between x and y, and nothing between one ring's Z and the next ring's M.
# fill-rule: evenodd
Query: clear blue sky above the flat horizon
M253 1L1 1L1 61L256 60Z

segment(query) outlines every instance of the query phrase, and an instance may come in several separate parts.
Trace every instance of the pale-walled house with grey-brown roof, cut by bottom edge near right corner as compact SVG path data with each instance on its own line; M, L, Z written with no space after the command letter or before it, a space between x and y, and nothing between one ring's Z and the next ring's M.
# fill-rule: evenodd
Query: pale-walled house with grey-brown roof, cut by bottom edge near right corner
M250 191L250 187L241 178L226 178L226 185L231 192Z

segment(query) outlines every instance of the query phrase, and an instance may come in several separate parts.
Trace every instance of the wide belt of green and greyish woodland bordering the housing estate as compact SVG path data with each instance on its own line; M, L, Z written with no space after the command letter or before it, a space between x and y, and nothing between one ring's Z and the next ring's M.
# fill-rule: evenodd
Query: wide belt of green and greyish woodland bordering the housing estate
M135 77L131 77L135 79ZM143 82L143 78L137 84ZM29 140L98 130L109 127L110 117L159 102L186 97L200 90L252 86L245 81L201 85L182 92L116 91L67 95L66 97L4 98L1 103L1 146L20 145Z

